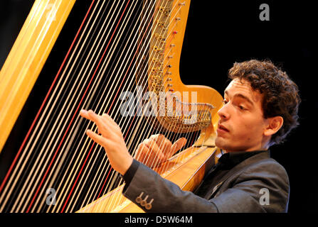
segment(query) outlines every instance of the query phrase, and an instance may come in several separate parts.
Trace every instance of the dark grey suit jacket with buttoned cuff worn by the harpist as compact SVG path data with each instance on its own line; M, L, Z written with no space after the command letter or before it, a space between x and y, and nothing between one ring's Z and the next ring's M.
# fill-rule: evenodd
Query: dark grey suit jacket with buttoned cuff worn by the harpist
M126 176L123 194L146 212L287 212L288 176L269 152L234 163L208 187L206 199L181 190L136 160L127 172L133 177Z

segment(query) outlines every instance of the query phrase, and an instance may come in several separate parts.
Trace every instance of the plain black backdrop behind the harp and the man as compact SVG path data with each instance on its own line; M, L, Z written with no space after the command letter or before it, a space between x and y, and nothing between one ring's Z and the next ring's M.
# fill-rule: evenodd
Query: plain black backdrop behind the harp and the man
M32 3L1 1L0 67ZM270 6L270 21L259 19L259 6L263 3ZM272 157L290 176L289 212L294 214L318 211L318 155L314 145L318 39L314 33L317 30L314 9L310 1L222 1L216 4L193 0L180 62L185 84L207 85L221 94L228 84L227 72L233 63L252 58L272 60L298 84L302 97L300 126L287 142L271 148Z

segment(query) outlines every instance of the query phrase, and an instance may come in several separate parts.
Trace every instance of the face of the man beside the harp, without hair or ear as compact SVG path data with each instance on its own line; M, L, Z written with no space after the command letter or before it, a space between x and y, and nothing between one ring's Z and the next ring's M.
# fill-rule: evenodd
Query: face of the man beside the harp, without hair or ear
M263 150L267 120L263 118L263 95L246 80L233 79L224 92L218 111L216 146L228 152Z

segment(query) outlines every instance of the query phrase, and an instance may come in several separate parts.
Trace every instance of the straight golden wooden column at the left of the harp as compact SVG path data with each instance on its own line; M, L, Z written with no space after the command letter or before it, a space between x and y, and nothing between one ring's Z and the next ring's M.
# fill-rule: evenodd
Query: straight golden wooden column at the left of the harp
M0 152L75 0L36 0L0 71Z

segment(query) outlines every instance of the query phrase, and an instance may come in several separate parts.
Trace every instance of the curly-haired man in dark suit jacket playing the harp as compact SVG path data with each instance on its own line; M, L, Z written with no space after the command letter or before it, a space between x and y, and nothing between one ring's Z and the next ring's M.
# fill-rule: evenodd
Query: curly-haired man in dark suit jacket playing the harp
M216 137L223 155L194 193L182 191L134 160L110 116L81 111L102 134L88 130L88 136L105 148L110 164L123 175L124 196L144 211L287 211L288 176L284 167L270 158L268 149L282 143L298 125L297 85L269 61L235 63L228 74L231 82L224 92L224 106L218 111ZM138 154L147 157L152 151L163 162L184 143L184 138L172 145L163 135L152 135L139 145Z

